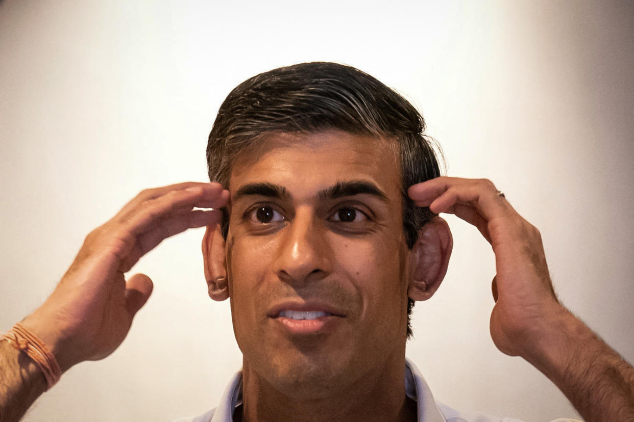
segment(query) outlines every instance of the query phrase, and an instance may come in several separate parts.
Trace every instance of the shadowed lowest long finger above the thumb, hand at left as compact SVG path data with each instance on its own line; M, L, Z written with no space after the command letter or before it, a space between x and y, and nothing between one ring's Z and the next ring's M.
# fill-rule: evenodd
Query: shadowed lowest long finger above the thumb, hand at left
M156 225L148 227L145 233L134 236L129 233L124 242L131 245L127 251L122 251L119 270L126 273L136 264L142 256L152 251L157 245L168 237L184 232L188 228L216 225L222 218L221 211L195 209L187 213L172 216L157 221Z

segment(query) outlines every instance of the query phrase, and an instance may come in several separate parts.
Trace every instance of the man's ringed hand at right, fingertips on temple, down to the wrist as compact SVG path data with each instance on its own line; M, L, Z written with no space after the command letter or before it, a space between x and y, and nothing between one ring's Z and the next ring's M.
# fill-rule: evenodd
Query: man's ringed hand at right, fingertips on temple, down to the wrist
M500 351L526 357L553 318L567 314L552 288L540 232L486 179L439 177L413 185L408 194L417 206L474 225L491 244L497 273L491 337Z

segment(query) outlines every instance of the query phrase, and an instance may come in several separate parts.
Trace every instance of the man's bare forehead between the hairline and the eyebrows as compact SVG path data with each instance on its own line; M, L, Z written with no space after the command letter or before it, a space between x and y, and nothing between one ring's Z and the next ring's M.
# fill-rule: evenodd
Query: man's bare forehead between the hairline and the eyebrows
M391 140L340 130L272 133L240 152L231 167L228 189L268 182L308 194L337 182L366 180L388 196L400 195L401 171Z

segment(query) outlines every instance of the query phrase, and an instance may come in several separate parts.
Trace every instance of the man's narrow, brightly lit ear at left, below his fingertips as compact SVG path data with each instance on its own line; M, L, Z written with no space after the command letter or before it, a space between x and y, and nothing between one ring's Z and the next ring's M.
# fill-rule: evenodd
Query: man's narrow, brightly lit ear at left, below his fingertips
M205 265L205 280L209 297L214 301L224 301L229 297L227 271L224 266L224 239L220 225L207 226L202 239L202 258Z

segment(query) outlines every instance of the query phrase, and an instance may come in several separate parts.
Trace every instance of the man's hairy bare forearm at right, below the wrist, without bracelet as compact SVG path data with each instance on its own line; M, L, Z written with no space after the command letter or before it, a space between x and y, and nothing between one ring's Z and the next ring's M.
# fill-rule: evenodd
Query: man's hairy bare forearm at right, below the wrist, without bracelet
M524 356L587 421L634 421L634 368L568 311Z

